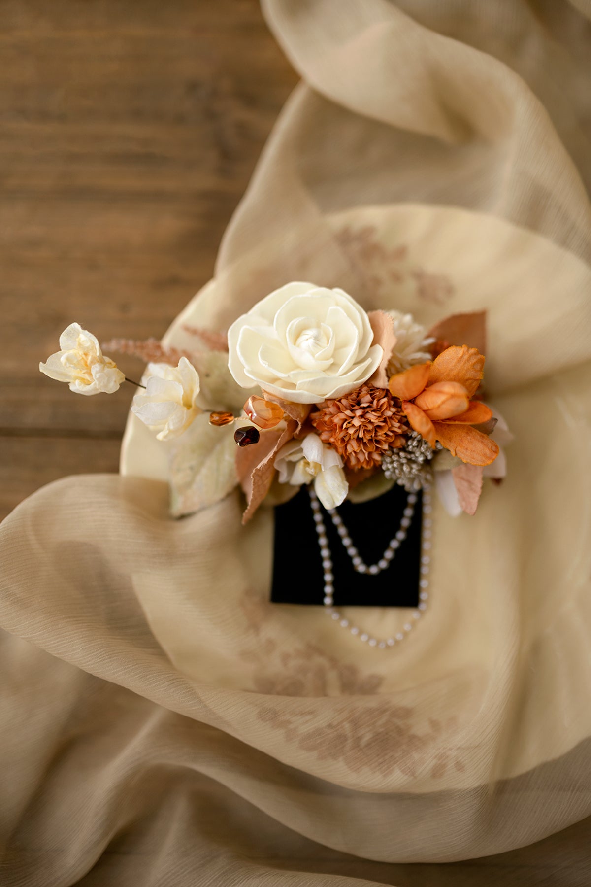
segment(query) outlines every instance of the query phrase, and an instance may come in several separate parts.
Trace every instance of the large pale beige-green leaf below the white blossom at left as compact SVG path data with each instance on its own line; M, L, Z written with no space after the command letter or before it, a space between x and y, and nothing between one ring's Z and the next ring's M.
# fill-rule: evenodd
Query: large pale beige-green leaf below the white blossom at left
M217 428L202 414L175 447L170 464L170 512L192 514L214 505L238 483L234 425Z

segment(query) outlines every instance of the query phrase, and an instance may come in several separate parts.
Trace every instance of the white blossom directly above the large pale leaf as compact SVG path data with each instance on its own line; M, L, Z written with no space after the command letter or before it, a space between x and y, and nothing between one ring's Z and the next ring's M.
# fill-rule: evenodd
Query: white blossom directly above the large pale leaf
M203 412L196 403L199 375L186 357L181 357L178 366L148 364L142 381L145 394L136 394L131 412L158 432L159 441L182 435Z

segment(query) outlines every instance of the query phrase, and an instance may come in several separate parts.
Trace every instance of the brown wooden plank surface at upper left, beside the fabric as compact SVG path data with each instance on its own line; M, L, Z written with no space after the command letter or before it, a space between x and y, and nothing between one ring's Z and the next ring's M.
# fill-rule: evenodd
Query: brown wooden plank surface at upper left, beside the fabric
M255 0L2 0L0 53L2 518L117 471L131 388L75 396L39 361L73 320L99 341L164 333L297 77Z

